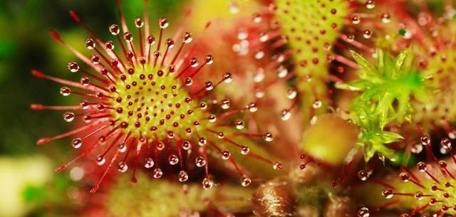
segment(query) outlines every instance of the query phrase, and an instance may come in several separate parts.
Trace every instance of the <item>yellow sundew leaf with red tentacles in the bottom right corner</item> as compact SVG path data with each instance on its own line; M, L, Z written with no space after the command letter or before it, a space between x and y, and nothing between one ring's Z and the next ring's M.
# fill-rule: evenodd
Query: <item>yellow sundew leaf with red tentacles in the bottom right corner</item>
M451 169L455 164L452 159L442 159L438 166L433 164L418 162L415 169L376 176L379 181L371 179L356 186L353 196L368 208L375 208L375 212L395 210L396 213L407 213L400 216L416 216L417 213L422 216L431 213L455 216L456 181Z

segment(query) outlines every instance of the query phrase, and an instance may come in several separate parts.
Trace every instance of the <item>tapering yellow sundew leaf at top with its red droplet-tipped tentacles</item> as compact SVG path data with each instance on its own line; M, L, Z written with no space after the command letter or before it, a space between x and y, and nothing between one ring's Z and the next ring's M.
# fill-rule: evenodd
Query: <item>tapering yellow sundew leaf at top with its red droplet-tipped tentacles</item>
M279 80L297 78L296 87L287 91L286 97L291 100L291 105L281 110L281 119L291 118L299 100L308 106L303 114L305 120L315 122L316 115L326 109L327 102L331 102L328 92L323 90L326 89L328 68L338 73L343 73L347 67L358 69L352 60L333 53L333 46L343 49L351 46L375 56L375 49L371 47L373 43L369 41L377 30L373 26L390 23L391 15L374 13L374 8L373 0L365 1L363 6L343 0L309 3L279 0L254 13L252 23L255 28L239 28L238 41L232 50L241 56L251 55L254 60L270 58L266 66L260 65L254 71L255 97L264 97L266 88ZM361 32L362 39L356 38L358 32ZM337 40L341 43L336 43ZM274 55L268 56L268 53ZM330 77L340 80L336 75ZM299 94L303 97L296 97Z

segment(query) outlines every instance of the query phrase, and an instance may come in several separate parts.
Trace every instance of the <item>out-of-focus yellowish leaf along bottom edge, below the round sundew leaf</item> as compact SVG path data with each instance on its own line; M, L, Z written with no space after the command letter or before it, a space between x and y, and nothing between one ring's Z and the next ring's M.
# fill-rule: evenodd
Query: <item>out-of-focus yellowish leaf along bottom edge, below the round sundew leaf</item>
M131 217L190 215L204 213L211 208L223 208L227 212L249 211L250 188L224 184L217 190L188 184L185 189L181 184L149 179L139 172L139 181L133 187L125 176L119 177L105 194L103 205L106 211L112 216Z

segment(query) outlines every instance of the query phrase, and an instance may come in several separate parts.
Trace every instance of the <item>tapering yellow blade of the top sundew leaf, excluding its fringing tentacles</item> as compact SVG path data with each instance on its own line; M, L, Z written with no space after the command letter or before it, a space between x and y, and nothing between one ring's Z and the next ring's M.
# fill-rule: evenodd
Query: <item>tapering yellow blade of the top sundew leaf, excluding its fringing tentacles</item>
M313 113L321 113L325 107L328 56L341 34L339 30L346 24L349 3L345 0L277 0L276 7L276 19L296 63L296 86L302 93L304 121L309 123ZM313 106L314 102L318 102L318 106Z

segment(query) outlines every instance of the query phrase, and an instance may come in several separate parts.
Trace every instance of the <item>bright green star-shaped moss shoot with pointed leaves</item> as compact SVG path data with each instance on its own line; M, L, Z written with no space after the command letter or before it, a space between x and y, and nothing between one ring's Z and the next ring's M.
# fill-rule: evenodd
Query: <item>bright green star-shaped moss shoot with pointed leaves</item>
M351 120L360 127L358 145L363 147L366 162L375 153L380 159L395 159L395 152L385 144L400 141L403 137L384 129L392 122L410 122L413 113L411 97L425 100L427 88L422 75L413 67L410 49L401 51L395 58L378 50L375 66L354 51L351 55L361 67L359 79L338 83L336 87L361 92L353 100L350 110Z

